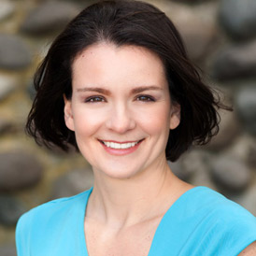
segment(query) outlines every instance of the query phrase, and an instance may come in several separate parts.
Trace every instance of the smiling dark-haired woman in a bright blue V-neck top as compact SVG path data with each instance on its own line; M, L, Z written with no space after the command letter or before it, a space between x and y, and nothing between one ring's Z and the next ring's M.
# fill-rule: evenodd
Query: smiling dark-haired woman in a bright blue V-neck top
M94 185L23 215L19 256L255 253L254 216L167 164L206 144L225 107L163 12L135 1L87 7L53 42L35 85L29 134L75 146Z

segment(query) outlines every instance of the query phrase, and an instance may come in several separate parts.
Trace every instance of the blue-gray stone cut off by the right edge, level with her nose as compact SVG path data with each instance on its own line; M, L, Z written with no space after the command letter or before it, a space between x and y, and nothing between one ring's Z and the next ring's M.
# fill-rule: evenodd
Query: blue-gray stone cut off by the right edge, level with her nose
M256 82L236 93L235 107L243 125L249 133L256 135Z

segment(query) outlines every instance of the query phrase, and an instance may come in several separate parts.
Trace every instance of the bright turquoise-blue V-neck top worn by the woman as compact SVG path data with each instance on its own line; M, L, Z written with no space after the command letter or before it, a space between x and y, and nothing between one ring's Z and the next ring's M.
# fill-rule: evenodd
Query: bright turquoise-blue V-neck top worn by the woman
M18 256L88 256L84 216L92 189L25 213ZM206 187L182 194L161 220L148 256L235 256L256 240L256 218ZM100 246L100 245L99 245Z

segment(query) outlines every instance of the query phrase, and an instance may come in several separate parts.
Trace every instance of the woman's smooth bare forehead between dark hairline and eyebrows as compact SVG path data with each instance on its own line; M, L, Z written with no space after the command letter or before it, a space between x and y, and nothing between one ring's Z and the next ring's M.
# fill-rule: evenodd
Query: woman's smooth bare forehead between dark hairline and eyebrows
M73 83L163 82L164 64L156 53L138 46L92 45L80 52L72 65Z

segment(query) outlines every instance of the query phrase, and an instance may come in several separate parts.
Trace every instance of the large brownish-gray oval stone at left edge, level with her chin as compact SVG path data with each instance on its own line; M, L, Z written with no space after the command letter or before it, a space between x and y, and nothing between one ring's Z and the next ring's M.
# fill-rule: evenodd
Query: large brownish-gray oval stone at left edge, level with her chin
M35 155L23 151L0 154L0 191L12 191L35 185L43 167Z

